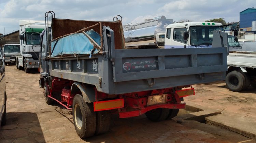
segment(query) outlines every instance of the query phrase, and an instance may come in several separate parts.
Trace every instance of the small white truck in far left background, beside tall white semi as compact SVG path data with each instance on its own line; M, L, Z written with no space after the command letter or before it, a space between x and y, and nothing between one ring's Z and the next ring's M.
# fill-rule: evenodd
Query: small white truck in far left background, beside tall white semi
M5 44L3 45L3 59L4 64L15 62L15 56L20 55L20 46L19 44Z

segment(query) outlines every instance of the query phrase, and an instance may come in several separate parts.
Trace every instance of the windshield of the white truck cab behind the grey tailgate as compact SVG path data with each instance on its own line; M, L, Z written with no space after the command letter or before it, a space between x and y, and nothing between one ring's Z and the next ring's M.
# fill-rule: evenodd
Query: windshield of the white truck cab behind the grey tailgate
M224 31L221 26L191 26L190 43L196 45L211 45L213 39L213 32L215 30Z

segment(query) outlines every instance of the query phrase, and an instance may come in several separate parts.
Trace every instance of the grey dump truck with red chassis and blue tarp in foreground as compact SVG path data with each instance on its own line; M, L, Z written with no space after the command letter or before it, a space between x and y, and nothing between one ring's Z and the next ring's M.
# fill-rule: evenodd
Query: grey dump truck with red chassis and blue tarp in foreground
M227 35L219 30L211 48L126 49L117 17L57 19L49 11L45 23L39 86L47 104L72 109L80 138L107 132L114 113L171 119L185 108L183 97L195 95L193 84L225 79L229 51ZM185 40L188 35L184 32Z

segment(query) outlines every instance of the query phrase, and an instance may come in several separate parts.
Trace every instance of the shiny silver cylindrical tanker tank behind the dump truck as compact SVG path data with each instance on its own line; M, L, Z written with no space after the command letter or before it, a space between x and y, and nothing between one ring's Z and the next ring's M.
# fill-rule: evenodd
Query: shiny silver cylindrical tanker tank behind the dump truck
M173 23L173 19L165 16L145 19L135 25L123 25L125 42L145 41L155 39L156 33L165 33L166 26Z

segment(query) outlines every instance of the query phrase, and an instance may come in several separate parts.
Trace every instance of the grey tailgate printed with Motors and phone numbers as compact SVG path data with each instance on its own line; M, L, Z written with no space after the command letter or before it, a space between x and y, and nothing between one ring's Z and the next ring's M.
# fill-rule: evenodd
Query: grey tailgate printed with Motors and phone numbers
M203 78L205 73L219 73L223 77L226 70L225 47L126 49L115 50L113 80L122 82L195 74L201 74Z

